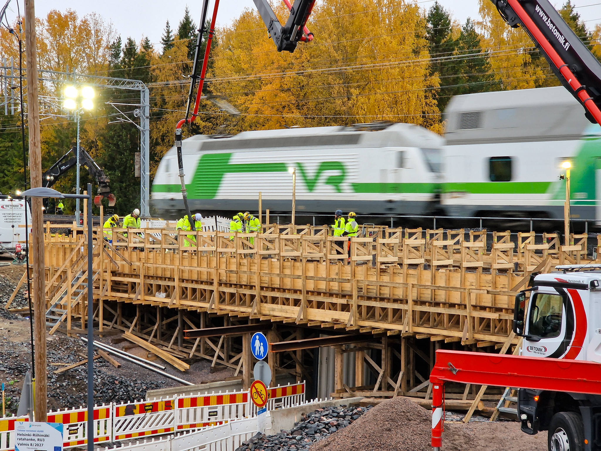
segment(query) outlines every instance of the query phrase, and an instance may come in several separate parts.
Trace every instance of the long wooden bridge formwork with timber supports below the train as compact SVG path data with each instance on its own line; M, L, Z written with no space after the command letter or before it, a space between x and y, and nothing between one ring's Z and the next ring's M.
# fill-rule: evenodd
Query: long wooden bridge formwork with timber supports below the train
M60 312L51 333L85 328L83 230L46 224L46 304ZM275 224L259 233L96 227L94 318L100 333L129 331L180 358L208 358L236 373L240 342L186 340L183 330L270 321L274 340L370 333L372 343L338 346L337 368L343 354L355 356L355 387L337 370L336 393L423 396L427 370L418 369L433 363L439 346L513 349L514 296L531 272L590 261L588 236L572 236L568 246L555 234L542 244L530 233L517 242L512 236L495 232L489 243L485 230L462 229L370 227L348 238L328 236L326 227ZM423 339L429 347L418 344ZM275 372L310 376L308 354L288 354L270 357ZM377 375L371 385L365 365Z

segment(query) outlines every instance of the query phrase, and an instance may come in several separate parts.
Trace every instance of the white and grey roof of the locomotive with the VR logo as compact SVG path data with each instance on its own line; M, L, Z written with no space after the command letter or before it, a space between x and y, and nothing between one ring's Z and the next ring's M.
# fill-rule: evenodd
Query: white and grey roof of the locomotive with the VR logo
M440 135L415 124L373 123L344 127L306 127L241 132L231 137L196 135L182 142L183 153L220 152L295 147L426 147L441 149ZM174 155L172 147L167 155Z

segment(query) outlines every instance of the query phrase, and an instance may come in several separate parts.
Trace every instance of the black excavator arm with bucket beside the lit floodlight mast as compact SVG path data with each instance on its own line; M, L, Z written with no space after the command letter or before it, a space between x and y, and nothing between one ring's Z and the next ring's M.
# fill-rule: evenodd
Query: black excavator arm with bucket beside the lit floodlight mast
M111 193L109 187L109 177L106 176L100 166L94 161L88 152L83 147L79 147L79 162L88 170L91 176L96 179L98 183L98 194L94 197L94 203L100 206L102 198L106 197L109 201L109 206L115 205L115 195ZM72 167L77 164L77 147L73 146L67 150L65 155L61 156L59 160L52 165L46 172L42 174L42 180L44 188L50 188L56 181L63 176L64 173L69 171Z

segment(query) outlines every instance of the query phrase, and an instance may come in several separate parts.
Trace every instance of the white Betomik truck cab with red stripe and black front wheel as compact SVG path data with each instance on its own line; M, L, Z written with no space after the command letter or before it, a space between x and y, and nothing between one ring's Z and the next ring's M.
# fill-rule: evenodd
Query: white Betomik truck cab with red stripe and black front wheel
M513 331L523 337L521 352L601 363L601 265L555 269L516 296ZM517 414L523 432L548 431L551 451L601 450L601 396L520 388Z

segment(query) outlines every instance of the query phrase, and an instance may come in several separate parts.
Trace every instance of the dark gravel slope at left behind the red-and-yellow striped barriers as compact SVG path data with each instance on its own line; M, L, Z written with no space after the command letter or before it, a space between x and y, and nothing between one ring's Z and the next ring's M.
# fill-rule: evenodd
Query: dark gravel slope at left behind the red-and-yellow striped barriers
M29 318L6 310L5 305L14 287L19 282L23 271L22 265L0 266L0 382L5 383L6 413L16 413L25 373L31 370L31 328ZM25 308L28 306L24 292L19 294L10 308ZM53 336L46 335L47 340L47 374L48 374L48 408L79 407L87 404L87 364L55 375L53 372L87 358L87 348L84 342L76 337L67 337L62 333ZM110 337L103 337L102 342L110 344ZM129 342L112 345L123 348ZM146 351L133 348L130 354L146 358ZM94 361L94 402L127 402L144 399L147 390L165 387L182 387L179 382L166 378L135 363L113 356L121 363L117 369L103 358ZM191 364L186 372L180 372L168 363L157 359L166 367L165 372L178 376L194 384L222 380L233 376L234 370L227 368L210 373L210 362L197 361Z

